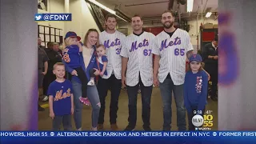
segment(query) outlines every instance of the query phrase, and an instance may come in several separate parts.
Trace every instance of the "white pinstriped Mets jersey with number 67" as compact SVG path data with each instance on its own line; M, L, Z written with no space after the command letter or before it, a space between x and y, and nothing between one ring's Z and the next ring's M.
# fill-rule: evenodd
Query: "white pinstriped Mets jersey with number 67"
M129 58L126 70L126 85L136 86L139 74L144 86L153 85L152 49L154 34L143 32L141 35L130 34L126 37L121 56Z

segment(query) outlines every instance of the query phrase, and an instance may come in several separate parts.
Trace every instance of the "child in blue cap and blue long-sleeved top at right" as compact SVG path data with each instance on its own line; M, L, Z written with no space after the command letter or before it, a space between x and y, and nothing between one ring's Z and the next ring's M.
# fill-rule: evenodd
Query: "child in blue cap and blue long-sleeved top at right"
M202 70L202 57L194 54L189 58L190 66L184 82L184 105L186 107L189 130L195 130L192 118L203 115L206 108L208 75Z

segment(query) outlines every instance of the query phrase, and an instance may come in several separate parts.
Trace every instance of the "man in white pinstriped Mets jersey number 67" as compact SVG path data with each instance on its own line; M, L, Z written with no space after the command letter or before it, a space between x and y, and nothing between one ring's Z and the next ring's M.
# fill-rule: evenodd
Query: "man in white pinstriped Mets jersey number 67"
M134 15L131 19L133 34L126 37L123 43L122 85L126 85L129 98L128 126L125 130L134 130L137 121L138 86L142 93L143 129L150 131L150 100L153 87L152 49L154 34L142 31L142 18Z

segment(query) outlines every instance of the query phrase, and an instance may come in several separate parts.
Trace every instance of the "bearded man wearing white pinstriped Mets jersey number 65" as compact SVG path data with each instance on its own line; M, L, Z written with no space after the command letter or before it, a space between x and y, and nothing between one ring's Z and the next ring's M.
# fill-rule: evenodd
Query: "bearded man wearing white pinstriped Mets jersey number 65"
M163 103L163 130L170 130L172 92L177 107L178 130L186 130L186 109L184 107L183 83L186 74L186 57L193 54L190 35L174 28L174 12L166 10L162 14L164 30L154 41L154 85L160 82Z

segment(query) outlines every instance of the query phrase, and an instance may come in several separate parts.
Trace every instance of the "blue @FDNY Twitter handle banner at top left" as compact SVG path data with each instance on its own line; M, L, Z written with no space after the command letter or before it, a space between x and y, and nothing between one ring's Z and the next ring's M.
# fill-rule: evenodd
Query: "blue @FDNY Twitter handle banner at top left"
M72 14L34 14L34 21L72 21Z

